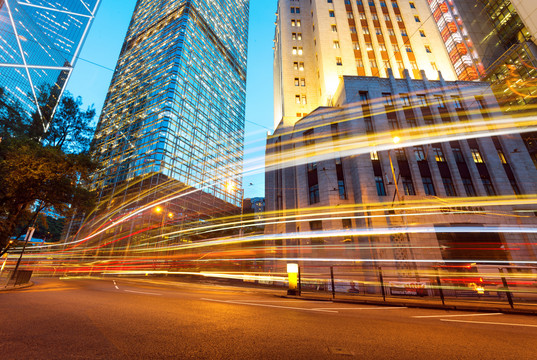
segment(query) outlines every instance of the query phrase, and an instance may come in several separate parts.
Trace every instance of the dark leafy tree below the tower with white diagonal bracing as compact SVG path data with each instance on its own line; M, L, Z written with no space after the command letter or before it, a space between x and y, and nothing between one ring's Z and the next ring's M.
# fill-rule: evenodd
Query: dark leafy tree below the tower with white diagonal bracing
M10 237L19 235L14 231L28 212L32 223L45 208L65 215L72 208L84 211L93 206L86 185L97 165L87 152L77 151L87 149L95 112L81 111L81 103L67 94L49 135L44 132L46 119L26 114L0 92L0 255Z

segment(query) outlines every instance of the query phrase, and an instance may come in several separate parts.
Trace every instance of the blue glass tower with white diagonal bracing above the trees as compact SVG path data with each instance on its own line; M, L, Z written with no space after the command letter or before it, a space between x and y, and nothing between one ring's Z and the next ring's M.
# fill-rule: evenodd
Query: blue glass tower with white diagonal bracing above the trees
M0 87L28 115L47 121L53 114L99 3L0 0ZM45 90L49 98L40 109Z

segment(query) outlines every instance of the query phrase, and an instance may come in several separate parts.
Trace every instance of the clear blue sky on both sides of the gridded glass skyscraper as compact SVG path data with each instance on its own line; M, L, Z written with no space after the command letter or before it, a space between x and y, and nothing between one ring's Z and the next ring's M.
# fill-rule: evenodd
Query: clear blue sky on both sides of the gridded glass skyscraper
M272 40L277 0L250 1L243 178L245 197L265 195L265 138L273 127ZM67 90L100 114L136 0L103 0ZM255 167L255 173L249 169ZM252 184L252 185L250 185Z

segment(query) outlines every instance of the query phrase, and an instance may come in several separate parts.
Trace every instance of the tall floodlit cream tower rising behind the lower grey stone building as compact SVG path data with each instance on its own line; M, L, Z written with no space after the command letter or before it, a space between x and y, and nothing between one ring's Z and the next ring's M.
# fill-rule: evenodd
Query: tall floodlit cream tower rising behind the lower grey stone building
M457 79L427 0L280 0L274 39L274 127L332 103L343 75Z

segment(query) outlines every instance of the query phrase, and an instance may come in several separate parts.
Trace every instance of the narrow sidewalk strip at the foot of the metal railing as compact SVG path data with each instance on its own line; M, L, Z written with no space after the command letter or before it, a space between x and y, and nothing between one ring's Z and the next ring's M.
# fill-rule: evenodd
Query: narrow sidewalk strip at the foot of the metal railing
M524 315L537 315L537 304L535 303L517 303L514 302L514 308L505 302L496 302L490 300L478 300L468 301L461 299L446 298L445 305L442 305L442 301L439 298L394 298L386 297L384 301L382 296L373 295L349 295L336 293L336 297L332 298L331 292L313 293L302 292L301 296L296 295L282 295L283 298L297 299L297 300L325 300L335 303L348 303L348 304L367 304L377 306L405 306L413 308L425 308L425 309L445 309L445 310L460 310L460 311L481 311L481 312L502 312L506 314L524 314Z

